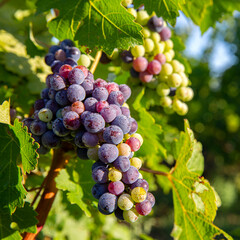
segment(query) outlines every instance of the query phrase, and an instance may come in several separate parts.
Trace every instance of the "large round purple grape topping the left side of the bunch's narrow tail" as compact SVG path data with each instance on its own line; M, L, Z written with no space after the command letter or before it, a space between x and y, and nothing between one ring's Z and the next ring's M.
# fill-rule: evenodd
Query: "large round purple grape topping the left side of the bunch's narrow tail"
M99 159L106 164L114 162L118 157L118 153L118 148L113 144L104 143L98 149Z

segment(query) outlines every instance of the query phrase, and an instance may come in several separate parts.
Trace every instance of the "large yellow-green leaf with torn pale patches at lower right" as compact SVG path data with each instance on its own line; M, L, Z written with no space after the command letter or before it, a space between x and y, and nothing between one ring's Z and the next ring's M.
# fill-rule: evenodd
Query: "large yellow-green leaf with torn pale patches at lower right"
M177 240L203 240L215 239L222 234L230 240L231 236L213 224L219 198L209 182L198 173L203 161L202 156L196 158L196 152L200 154L198 148L193 132L185 121L185 132L181 132L180 139L175 141L173 147L176 165L168 175L175 209L172 236Z

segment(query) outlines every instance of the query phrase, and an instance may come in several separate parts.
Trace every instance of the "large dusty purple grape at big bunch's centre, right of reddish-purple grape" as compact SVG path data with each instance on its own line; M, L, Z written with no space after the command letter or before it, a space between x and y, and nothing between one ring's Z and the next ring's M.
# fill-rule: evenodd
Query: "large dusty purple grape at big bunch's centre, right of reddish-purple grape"
M90 113L86 116L83 125L88 132L98 133L105 127L105 121L100 114Z

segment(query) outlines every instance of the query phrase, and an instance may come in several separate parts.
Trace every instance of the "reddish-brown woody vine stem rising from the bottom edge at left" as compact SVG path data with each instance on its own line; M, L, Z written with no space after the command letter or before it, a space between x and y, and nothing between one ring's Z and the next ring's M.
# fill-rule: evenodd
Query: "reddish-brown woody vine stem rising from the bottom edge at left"
M23 237L24 240L34 240L38 233L42 230L48 213L52 207L53 201L56 197L56 193L58 191L56 187L55 177L58 175L60 170L67 164L68 160L64 157L64 149L56 149L53 155L53 161L51 168L48 172L45 181L45 189L41 196L41 199L36 208L36 212L38 213L37 219L37 232L36 233L26 233Z

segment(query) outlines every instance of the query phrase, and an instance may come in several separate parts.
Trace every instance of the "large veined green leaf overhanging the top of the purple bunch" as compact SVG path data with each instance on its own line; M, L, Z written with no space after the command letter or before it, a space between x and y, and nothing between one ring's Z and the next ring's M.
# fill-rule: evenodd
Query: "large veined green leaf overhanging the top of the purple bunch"
M91 49L102 48L111 54L114 48L128 49L142 44L141 26L120 5L121 0L41 0L38 11L57 8L60 14L48 23L58 39L75 39Z

